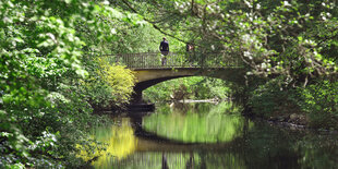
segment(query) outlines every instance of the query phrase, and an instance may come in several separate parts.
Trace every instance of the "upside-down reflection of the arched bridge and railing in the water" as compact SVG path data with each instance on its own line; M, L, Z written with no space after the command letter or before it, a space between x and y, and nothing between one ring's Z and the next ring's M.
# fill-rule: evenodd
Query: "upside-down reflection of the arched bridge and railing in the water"
M239 146L244 144L245 134L244 137L237 137L225 143L184 143L143 130L141 118L134 117L131 120L137 136L136 149L126 158L112 158L110 165L113 168L203 169L213 168L213 166L217 168L243 168L244 166L242 154L234 152L238 152ZM248 119L243 130L248 133Z

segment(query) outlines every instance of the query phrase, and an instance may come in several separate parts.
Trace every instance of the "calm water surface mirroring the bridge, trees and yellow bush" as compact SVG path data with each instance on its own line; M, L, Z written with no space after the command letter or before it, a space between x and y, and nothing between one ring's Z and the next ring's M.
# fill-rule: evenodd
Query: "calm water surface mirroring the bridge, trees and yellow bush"
M95 168L338 168L337 134L252 121L229 102L161 105L116 122L93 131L106 143Z

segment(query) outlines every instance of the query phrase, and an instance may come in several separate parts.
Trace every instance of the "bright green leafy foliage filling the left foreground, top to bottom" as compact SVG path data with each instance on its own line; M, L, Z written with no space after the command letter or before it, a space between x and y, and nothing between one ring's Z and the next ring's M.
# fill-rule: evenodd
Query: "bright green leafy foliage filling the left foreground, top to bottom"
M0 2L0 168L82 165L76 145L90 146L86 130L101 121L83 92L108 90L83 86L100 69L84 68L83 51L99 51L94 44L113 39L114 27L102 19L124 17L89 0Z

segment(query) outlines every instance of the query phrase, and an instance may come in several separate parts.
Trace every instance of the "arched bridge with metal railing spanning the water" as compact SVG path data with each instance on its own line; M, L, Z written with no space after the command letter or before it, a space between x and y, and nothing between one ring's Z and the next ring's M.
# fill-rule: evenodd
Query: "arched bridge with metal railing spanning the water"
M159 52L102 55L109 62L124 64L134 71L137 83L133 102L142 102L142 92L157 83L184 76L212 76L244 84L245 71L240 57L226 52Z

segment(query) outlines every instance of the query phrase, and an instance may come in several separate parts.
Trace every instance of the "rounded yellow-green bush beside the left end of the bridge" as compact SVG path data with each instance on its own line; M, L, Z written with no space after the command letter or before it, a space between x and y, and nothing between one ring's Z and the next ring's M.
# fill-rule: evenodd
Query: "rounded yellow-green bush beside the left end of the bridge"
M129 102L135 83L131 70L110 63L100 56L86 56L83 63L88 77L80 81L80 89L94 111L109 110Z

